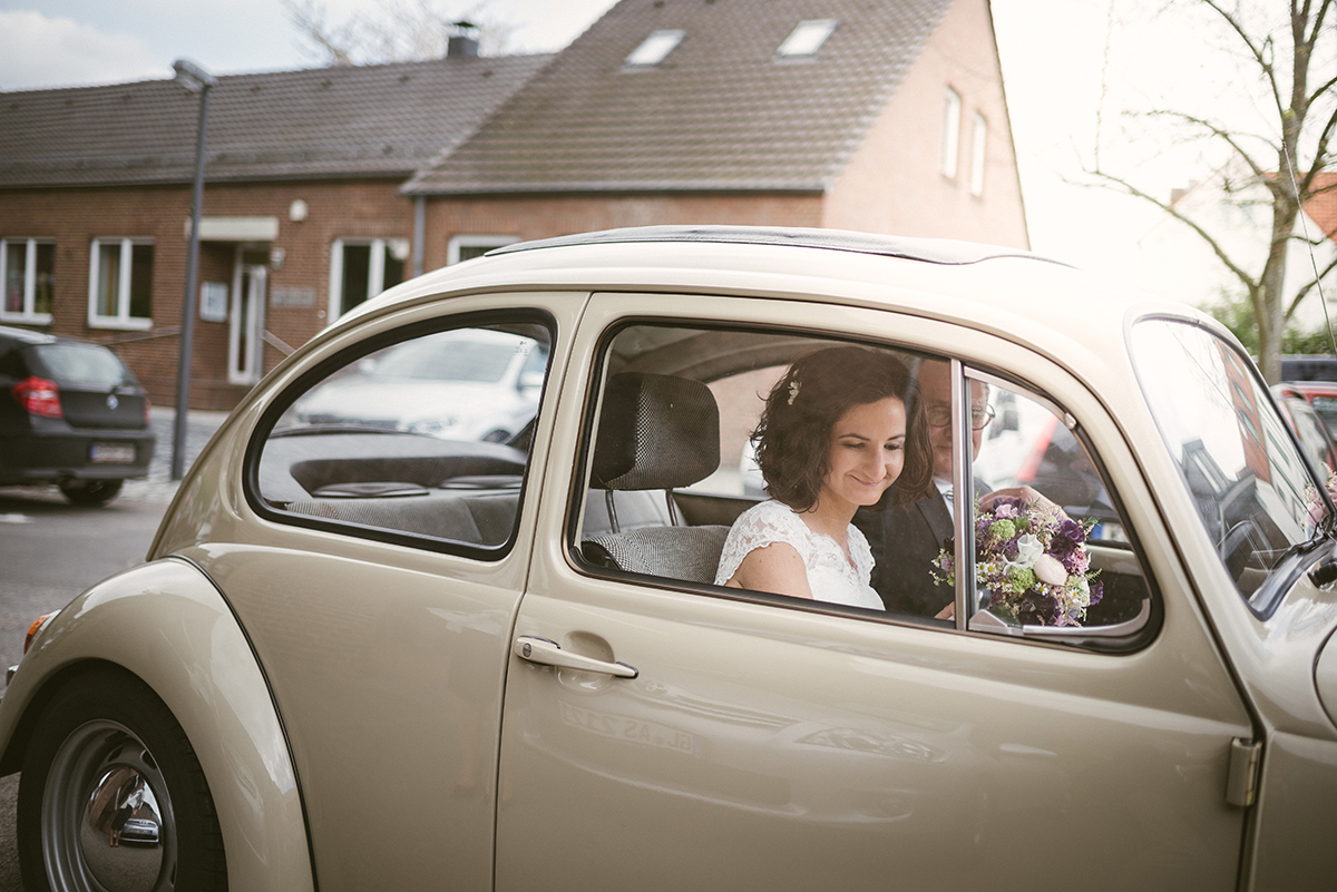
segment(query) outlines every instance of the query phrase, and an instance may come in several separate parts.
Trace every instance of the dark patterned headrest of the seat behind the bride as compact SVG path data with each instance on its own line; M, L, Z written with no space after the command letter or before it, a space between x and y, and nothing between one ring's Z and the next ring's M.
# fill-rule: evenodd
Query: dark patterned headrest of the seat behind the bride
M719 407L699 381L623 373L608 378L594 450L594 486L690 486L719 467Z

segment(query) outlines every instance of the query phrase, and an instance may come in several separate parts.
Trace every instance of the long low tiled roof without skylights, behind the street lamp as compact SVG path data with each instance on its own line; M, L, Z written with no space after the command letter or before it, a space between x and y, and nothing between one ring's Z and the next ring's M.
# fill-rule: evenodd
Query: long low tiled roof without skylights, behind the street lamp
M408 178L551 56L436 59L218 79L206 176ZM0 92L0 187L190 182L199 99L172 80Z

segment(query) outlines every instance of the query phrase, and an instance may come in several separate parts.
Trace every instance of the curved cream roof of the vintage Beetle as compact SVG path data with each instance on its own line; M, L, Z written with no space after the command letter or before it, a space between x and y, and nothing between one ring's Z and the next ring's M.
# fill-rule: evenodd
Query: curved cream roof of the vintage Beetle
M1130 369L1138 318L1187 319L1234 341L1181 302L1155 298L1029 251L838 230L654 226L505 246L410 279L345 314L356 320L443 296L504 291L709 294L893 308L989 331L1070 369Z

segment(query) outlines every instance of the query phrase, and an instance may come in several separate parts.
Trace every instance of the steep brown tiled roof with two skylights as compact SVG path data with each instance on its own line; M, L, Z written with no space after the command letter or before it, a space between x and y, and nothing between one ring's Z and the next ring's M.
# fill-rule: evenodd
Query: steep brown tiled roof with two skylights
M821 191L951 3L623 0L405 191ZM777 60L806 19L840 24ZM670 28L686 36L662 64L624 67Z

